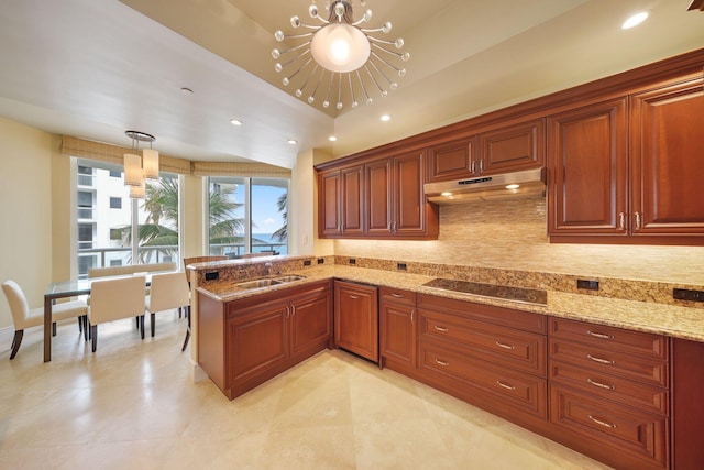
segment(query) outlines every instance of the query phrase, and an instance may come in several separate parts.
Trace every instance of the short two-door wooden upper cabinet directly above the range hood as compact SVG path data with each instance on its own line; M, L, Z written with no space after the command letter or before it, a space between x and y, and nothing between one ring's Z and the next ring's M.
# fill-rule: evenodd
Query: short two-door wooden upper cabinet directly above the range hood
M544 121L536 119L428 147L428 181L539 168L544 165Z

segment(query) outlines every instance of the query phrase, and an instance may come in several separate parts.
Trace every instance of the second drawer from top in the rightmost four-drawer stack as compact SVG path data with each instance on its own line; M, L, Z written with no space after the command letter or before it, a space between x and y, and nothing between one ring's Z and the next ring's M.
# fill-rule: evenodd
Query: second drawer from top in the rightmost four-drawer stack
M550 339L550 360L587 368L601 374L617 375L652 385L668 386L668 362L622 354L596 346Z

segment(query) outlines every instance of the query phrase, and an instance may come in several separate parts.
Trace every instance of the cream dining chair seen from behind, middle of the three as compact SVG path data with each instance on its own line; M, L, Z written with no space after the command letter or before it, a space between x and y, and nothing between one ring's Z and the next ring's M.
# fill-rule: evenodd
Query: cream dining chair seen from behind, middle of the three
M138 317L142 339L144 339L145 293L145 276L96 281L91 284L88 323L92 352L96 352L98 346L98 325L108 321Z

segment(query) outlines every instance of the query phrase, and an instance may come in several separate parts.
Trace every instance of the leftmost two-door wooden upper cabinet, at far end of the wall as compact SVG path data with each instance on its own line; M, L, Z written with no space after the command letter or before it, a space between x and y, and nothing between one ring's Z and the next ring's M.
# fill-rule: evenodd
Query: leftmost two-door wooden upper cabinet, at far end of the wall
M322 238L361 234L363 166L318 174L318 234Z

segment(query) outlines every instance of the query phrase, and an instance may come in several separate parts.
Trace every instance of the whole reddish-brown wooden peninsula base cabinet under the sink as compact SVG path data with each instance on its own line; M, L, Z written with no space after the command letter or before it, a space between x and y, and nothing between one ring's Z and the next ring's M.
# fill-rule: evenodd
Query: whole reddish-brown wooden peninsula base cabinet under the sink
M198 298L198 363L230 400L332 347L324 281L221 303Z

